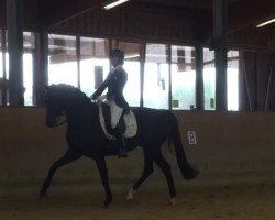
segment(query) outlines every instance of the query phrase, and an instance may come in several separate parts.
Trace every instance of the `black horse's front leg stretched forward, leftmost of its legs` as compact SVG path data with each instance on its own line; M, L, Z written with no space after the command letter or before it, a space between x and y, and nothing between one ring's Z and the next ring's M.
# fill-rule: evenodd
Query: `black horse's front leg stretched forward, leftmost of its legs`
M50 168L46 179L44 180L43 187L40 191L40 197L45 198L47 196L47 189L51 185L53 176L61 166L70 163L74 160L79 158L81 155L68 150L59 160L57 160Z

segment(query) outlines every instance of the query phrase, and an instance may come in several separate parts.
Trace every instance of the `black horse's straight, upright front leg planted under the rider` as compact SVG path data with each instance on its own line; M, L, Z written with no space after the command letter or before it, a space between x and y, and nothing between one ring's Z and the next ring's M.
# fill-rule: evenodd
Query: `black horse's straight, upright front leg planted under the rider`
M110 202L112 202L112 193L109 186L109 177L108 177L108 170L107 170L107 166L106 166L106 160L103 156L98 156L97 158L95 158L100 177L101 177L101 182L103 184L105 190L106 190L106 199L102 204L102 207L108 207Z

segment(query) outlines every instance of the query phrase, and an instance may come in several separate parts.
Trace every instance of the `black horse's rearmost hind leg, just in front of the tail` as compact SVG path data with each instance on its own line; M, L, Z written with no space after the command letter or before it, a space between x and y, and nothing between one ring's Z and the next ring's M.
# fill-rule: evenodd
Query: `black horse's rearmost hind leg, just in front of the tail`
M154 161L160 166L164 176L166 177L166 180L169 187L170 204L174 205L176 204L176 189L175 189L175 184L174 184L173 176L170 173L170 165L164 158L161 152L154 157Z

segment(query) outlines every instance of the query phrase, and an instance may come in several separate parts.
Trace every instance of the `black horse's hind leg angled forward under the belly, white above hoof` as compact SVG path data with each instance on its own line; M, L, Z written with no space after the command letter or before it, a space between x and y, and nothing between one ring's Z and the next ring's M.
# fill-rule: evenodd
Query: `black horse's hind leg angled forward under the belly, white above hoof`
M129 190L127 198L133 199L133 194L140 188L142 183L154 172L153 168L153 157L152 155L144 151L144 167L140 179L132 186Z

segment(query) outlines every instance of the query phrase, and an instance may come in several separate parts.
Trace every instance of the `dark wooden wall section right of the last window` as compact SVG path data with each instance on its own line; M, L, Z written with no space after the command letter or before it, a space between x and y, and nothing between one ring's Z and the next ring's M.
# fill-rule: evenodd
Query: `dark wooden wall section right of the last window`
M275 110L275 54L243 51L240 58L240 109Z

